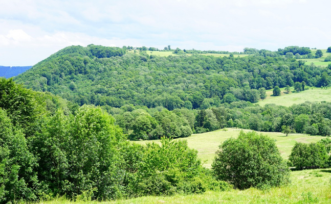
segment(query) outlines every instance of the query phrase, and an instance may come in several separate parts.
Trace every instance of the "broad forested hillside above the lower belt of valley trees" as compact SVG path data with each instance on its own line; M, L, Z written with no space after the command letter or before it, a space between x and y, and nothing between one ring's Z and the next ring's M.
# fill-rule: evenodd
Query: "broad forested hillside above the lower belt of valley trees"
M80 105L207 109L236 100L255 103L265 89L295 82L327 86L330 68L281 55L158 57L89 45L66 47L14 80Z

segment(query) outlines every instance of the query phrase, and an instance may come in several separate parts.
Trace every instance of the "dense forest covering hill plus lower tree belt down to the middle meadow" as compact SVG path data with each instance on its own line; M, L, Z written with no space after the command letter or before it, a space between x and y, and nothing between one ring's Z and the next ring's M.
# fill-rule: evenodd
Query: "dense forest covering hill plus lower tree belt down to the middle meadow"
M315 66L288 55L311 54L307 47L245 48L251 55L236 58L158 57L143 50L128 53L128 48L66 47L14 80L79 106L100 106L132 140L187 137L223 127L330 135L329 103L254 105L266 97L266 89L280 93L278 87L304 91L306 85L330 84L331 64Z

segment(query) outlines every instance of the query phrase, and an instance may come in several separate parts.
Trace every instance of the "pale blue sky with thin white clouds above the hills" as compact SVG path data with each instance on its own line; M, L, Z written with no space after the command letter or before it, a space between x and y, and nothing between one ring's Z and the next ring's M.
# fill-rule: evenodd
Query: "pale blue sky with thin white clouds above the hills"
M227 50L331 46L329 0L0 0L0 65L70 45Z

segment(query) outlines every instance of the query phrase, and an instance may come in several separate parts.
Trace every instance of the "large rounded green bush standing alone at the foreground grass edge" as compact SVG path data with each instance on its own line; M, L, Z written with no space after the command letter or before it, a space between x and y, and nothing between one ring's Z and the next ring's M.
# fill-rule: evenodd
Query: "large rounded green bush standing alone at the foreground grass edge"
M256 132L240 132L219 146L212 170L235 188L281 186L289 182L289 168L275 141Z

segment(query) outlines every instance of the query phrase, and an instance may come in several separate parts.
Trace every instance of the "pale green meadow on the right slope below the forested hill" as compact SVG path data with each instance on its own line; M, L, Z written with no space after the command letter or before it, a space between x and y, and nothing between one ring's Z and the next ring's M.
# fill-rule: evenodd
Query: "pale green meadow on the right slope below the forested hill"
M291 90L294 88L291 87ZM260 100L257 104L260 106L264 106L266 104L276 104L280 106L292 106L293 104L302 104L305 101L331 101L331 89L322 89L316 87L309 87L308 90L301 91L299 93L292 93L289 94L284 93L284 88L281 88L281 95L280 96L271 96L272 89L267 90L267 98L264 100Z

